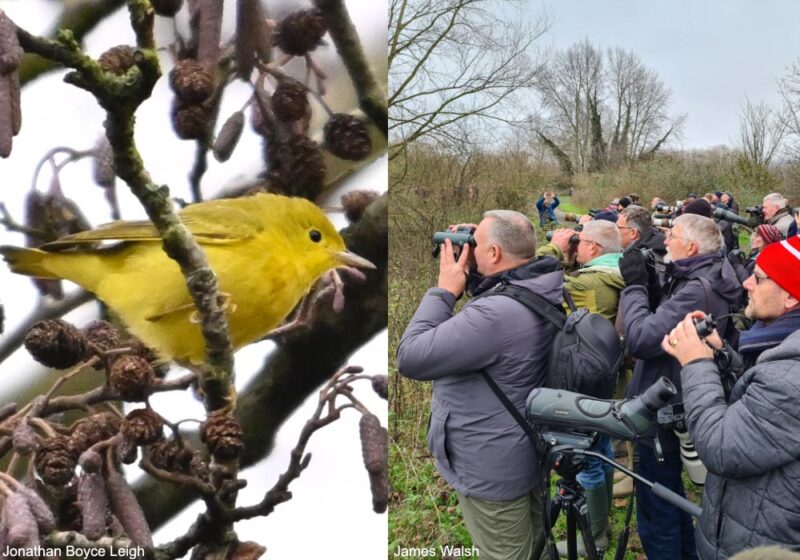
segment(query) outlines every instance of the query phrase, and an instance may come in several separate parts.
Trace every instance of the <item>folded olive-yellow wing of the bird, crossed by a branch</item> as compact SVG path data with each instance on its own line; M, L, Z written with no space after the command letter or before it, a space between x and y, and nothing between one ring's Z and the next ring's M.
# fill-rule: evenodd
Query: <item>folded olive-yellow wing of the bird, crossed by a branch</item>
M263 225L252 212L241 204L220 200L186 207L180 213L183 224L189 228L200 244L228 244L250 239ZM41 248L47 251L60 250L76 245L94 244L103 241L160 241L155 226L149 221L118 221L96 229L66 235Z

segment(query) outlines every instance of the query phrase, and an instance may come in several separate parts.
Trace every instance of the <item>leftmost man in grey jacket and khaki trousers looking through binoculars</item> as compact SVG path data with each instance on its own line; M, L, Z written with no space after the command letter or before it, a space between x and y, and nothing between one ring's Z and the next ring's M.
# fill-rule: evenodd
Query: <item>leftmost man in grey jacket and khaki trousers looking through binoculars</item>
M474 238L474 252L464 245L458 258L445 240L437 285L406 327L397 365L433 383L428 446L480 558L530 560L544 547L540 457L481 372L524 415L528 393L544 382L555 327L507 297L475 297L455 314L454 307L468 275L471 296L507 282L560 305L563 269L536 257L534 226L519 212L486 212Z

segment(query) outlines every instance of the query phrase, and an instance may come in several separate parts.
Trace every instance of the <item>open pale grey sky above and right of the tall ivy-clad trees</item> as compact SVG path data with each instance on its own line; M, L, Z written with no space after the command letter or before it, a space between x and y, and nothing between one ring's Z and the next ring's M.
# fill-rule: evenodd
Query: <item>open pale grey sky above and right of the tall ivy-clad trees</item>
M553 19L542 44L584 38L633 51L687 113L685 148L735 141L745 97L777 105L776 81L800 57L795 0L531 0Z

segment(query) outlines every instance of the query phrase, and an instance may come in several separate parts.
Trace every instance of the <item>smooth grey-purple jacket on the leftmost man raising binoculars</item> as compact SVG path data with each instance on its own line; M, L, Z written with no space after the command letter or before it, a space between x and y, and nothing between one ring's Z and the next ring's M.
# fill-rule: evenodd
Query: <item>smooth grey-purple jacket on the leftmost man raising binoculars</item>
M536 259L510 283L560 304L563 270ZM544 381L554 327L507 297L476 298L453 315L455 297L428 290L397 350L400 373L433 381L428 445L444 479L466 496L505 501L539 480L536 452L480 374L486 370L524 416Z

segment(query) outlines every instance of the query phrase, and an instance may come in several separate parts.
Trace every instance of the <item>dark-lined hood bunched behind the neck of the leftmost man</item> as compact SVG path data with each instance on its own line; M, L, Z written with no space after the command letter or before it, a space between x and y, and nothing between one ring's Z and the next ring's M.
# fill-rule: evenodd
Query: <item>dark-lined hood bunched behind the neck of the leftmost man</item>
M475 280L472 279L476 276ZM562 293L564 285L564 268L561 263L553 257L536 257L527 263L504 270L492 276L480 276L477 273L470 273L470 281L477 280L477 284L470 291L473 296L477 296L501 282L522 286L531 292L538 294L553 304L560 304L564 301Z

